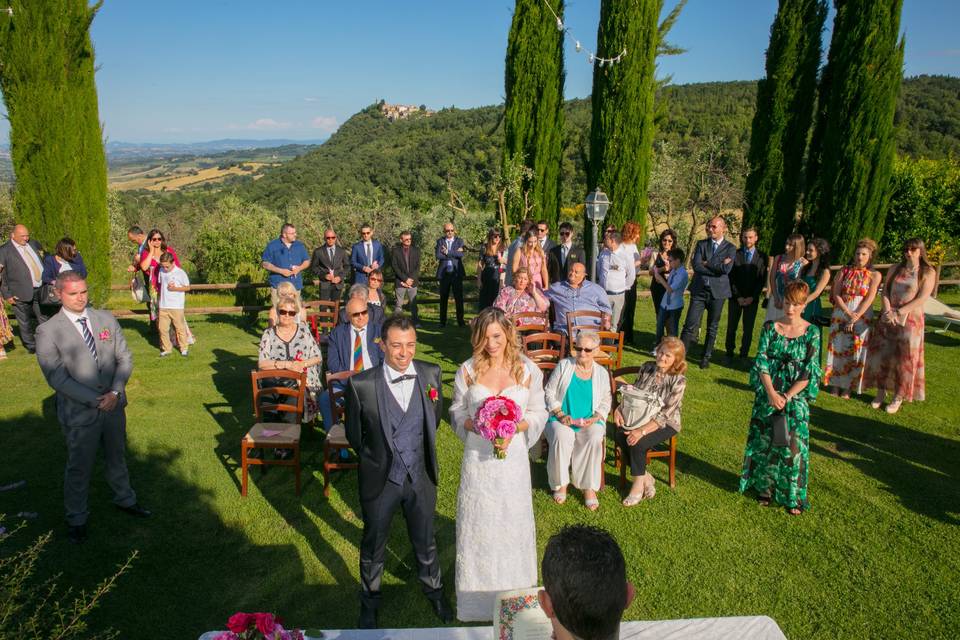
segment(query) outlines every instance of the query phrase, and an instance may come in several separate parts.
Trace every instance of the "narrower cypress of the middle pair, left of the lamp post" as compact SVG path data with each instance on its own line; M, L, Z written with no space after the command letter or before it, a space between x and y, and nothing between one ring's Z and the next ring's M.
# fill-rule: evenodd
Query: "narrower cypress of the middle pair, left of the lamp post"
M563 17L563 0L554 11ZM525 180L529 215L556 228L563 159L563 32L543 0L517 0L507 40L504 166L521 158L533 171ZM527 214L511 206L511 222Z

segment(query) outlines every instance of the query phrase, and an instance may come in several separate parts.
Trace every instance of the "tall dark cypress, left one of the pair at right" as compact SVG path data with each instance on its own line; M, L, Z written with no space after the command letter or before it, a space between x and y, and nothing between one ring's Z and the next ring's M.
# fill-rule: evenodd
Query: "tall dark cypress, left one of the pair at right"
M779 252L793 231L813 121L826 0L780 0L770 28L767 75L757 85L743 224Z

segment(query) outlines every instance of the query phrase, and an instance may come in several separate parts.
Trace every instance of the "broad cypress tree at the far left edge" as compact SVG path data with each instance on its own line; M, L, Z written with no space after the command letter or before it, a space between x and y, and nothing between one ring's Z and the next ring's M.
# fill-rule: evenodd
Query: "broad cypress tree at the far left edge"
M77 242L96 302L110 284L107 160L90 40L101 4L11 0L0 11L17 220L48 250L65 235Z

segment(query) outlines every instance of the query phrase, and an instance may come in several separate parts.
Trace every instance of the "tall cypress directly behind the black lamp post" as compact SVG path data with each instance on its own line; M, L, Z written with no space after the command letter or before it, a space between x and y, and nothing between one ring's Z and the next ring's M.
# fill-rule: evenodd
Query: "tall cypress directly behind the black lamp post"
M610 198L606 224L633 220L645 227L653 155L657 20L663 0L603 0L597 52L616 64L594 63L588 190ZM589 222L588 233L592 233Z

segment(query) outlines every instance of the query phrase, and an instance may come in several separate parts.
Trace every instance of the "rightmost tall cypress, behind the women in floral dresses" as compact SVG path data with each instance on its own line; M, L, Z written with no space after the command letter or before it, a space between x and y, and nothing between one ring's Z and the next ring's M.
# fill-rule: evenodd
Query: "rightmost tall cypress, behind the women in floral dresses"
M879 238L890 201L903 78L903 0L835 0L837 15L807 165L803 223L846 260Z

